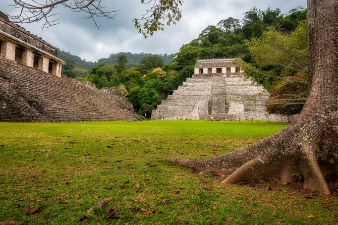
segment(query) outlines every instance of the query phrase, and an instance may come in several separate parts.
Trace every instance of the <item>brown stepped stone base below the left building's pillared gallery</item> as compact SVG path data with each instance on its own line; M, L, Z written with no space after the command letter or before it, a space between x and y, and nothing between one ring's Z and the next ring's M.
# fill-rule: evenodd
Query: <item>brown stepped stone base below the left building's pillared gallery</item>
M0 56L0 121L142 120L119 98L114 91L97 90Z

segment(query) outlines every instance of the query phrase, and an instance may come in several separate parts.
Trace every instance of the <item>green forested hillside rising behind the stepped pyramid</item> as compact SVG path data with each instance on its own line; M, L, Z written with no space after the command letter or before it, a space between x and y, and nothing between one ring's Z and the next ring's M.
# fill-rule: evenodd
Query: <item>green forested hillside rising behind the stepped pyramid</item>
M287 15L279 9L252 8L244 13L242 21L229 17L206 27L196 39L171 55L175 58L171 63L166 54L140 53L132 58L131 53L121 52L96 63L81 63L73 56L70 59L74 63L67 65L65 71L91 68L88 74L72 75L93 82L98 88L115 87L140 115L149 118L163 99L192 76L197 60L241 58L246 74L271 90L267 109L271 113L297 114L307 96L305 21L303 8L293 9ZM65 60L63 56L60 54ZM67 68L72 65L73 69Z

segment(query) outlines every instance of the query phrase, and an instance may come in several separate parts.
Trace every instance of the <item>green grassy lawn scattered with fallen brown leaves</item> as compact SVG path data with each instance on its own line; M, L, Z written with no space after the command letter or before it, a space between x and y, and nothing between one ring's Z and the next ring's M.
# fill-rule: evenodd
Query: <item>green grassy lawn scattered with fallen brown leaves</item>
M222 186L219 176L162 160L224 154L286 126L0 123L0 224L337 224L334 196ZM83 217L106 198L112 201ZM116 211L106 218L109 209Z

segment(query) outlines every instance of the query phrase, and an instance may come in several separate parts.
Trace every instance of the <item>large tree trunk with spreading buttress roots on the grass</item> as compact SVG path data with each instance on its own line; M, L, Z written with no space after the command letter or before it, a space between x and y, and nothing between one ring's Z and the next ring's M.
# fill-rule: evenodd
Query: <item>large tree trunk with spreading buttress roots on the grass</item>
M223 173L222 183L279 177L330 194L338 177L338 1L308 0L309 97L286 129L252 145L207 160L172 159L201 172Z

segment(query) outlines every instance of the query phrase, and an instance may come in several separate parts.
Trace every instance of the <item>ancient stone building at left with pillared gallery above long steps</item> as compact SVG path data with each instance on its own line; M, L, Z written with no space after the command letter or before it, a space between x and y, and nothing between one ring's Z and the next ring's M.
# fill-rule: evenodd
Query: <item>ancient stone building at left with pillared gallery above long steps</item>
M0 13L0 121L136 121L133 106L112 89L61 76L57 49Z

